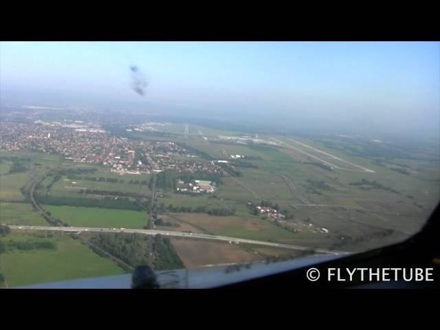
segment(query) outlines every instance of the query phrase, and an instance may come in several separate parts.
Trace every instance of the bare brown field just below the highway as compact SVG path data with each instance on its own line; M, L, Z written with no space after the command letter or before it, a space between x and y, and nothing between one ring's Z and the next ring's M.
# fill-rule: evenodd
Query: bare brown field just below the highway
M235 244L186 239L171 239L171 242L186 268L264 259L261 255L247 252Z

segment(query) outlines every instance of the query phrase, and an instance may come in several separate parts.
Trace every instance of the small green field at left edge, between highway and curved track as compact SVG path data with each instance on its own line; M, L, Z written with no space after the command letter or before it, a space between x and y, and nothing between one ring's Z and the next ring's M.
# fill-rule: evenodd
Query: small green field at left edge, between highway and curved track
M48 225L30 203L0 202L0 223L8 225Z

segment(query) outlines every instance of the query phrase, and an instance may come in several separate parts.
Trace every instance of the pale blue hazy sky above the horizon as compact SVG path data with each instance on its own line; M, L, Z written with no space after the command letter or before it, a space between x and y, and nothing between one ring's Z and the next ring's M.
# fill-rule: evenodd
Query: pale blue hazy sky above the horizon
M143 97L129 65L149 80ZM1 42L2 90L3 102L45 91L237 120L440 131L440 43Z

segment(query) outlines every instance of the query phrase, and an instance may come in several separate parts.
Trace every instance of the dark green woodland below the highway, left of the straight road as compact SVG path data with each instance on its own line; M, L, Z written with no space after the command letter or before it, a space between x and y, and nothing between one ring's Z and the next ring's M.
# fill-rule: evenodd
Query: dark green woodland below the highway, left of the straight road
M91 236L90 242L131 267L148 264L147 235L103 232Z

